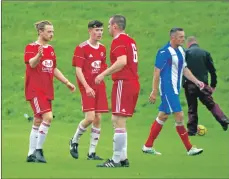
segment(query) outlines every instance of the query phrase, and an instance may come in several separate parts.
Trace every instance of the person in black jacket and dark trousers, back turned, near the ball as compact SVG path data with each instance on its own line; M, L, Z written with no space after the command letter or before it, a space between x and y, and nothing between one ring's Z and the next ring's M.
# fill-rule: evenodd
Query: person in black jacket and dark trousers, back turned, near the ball
M228 129L229 119L225 116L219 105L215 103L212 93L216 89L217 75L213 64L211 54L199 47L195 37L188 37L186 50L187 67L191 70L193 75L206 85L203 90L200 90L194 83L183 78L183 87L185 89L185 96L188 103L188 134L190 136L196 135L198 125L198 98L212 113L215 119L220 123L223 130ZM208 73L211 76L211 83L208 85Z

